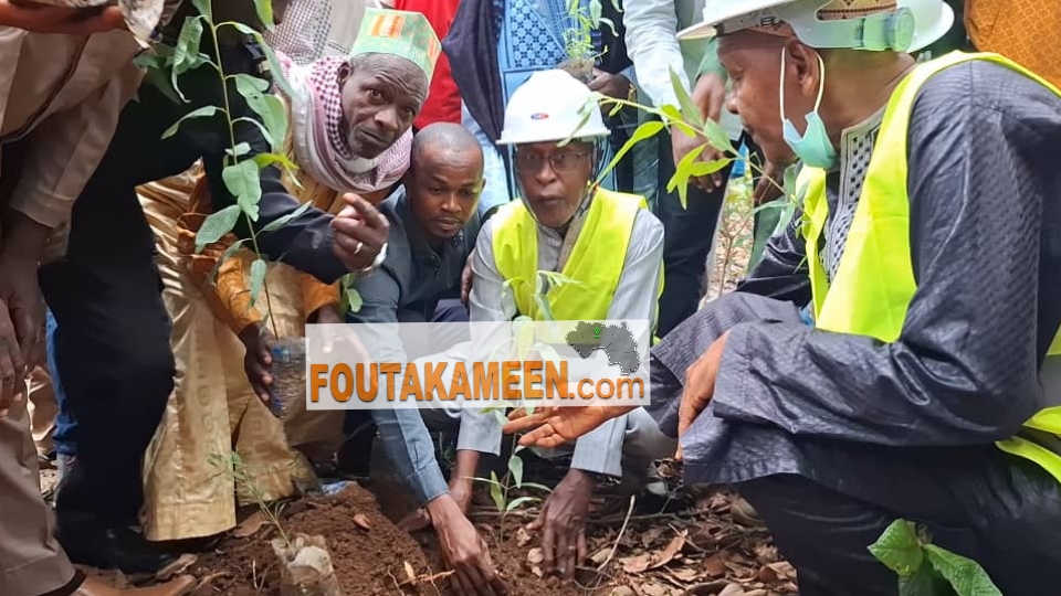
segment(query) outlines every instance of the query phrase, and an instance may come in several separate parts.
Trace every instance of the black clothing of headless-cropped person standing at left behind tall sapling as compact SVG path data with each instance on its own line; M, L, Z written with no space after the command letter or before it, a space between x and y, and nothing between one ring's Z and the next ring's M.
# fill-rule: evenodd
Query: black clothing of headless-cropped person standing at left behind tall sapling
M233 50L231 61L244 53ZM74 204L66 255L41 268L41 289L57 323L53 368L76 423L77 465L55 500L62 531L83 521L136 520L141 458L172 391L170 321L136 187L176 175L225 147L216 123L204 119L162 140L183 114L221 103L209 66L186 74L180 85L190 104L174 104L144 85L126 106L106 156Z

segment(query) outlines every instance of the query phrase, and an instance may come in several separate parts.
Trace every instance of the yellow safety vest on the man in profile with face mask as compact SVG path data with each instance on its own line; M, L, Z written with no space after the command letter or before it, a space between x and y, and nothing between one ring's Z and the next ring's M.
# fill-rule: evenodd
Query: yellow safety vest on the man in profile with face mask
M916 283L910 247L910 198L906 194L906 141L910 116L921 86L944 68L985 60L1002 64L1042 83L1043 78L998 54L953 52L918 65L904 78L889 100L873 147L854 219L843 245L843 255L830 284L818 253L829 215L826 172L803 168L797 191L803 193L803 237L818 329L876 338L899 339ZM1061 355L1061 333L1054 337L1048 358ZM1037 441L1036 435L1044 440ZM1010 454L1030 459L1061 481L1061 454L1043 444L1061 436L1061 406L1047 407L1025 423L1020 436L997 443Z

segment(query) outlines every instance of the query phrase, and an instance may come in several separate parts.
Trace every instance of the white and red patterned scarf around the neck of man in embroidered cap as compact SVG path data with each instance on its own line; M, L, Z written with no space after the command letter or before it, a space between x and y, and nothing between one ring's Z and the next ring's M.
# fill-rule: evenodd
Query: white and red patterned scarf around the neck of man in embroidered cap
M358 157L343 130L342 57L323 57L298 66L283 53L277 58L295 92L292 137L295 161L317 182L337 192L375 192L397 182L409 169L412 130L407 130L375 159Z

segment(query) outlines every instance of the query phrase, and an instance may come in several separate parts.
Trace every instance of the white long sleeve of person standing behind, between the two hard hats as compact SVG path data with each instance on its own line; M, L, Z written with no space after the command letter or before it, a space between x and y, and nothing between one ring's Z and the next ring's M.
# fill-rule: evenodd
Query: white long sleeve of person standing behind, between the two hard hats
M633 61L638 86L656 107L680 107L671 83L677 73L686 93L696 82L706 40L677 41L677 32L702 19L704 0L624 0L622 22L627 28L627 54ZM740 120L725 109L719 124L731 139L740 137Z

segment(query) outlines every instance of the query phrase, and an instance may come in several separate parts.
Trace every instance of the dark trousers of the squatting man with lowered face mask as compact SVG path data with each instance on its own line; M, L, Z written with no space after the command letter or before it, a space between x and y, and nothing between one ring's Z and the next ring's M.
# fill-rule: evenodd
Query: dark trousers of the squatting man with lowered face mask
M896 574L868 546L900 518L979 563L1006 596L1055 592L1061 486L1037 465L994 446L801 447L822 462L820 478L768 476L737 486L796 567L800 596L899 594Z

